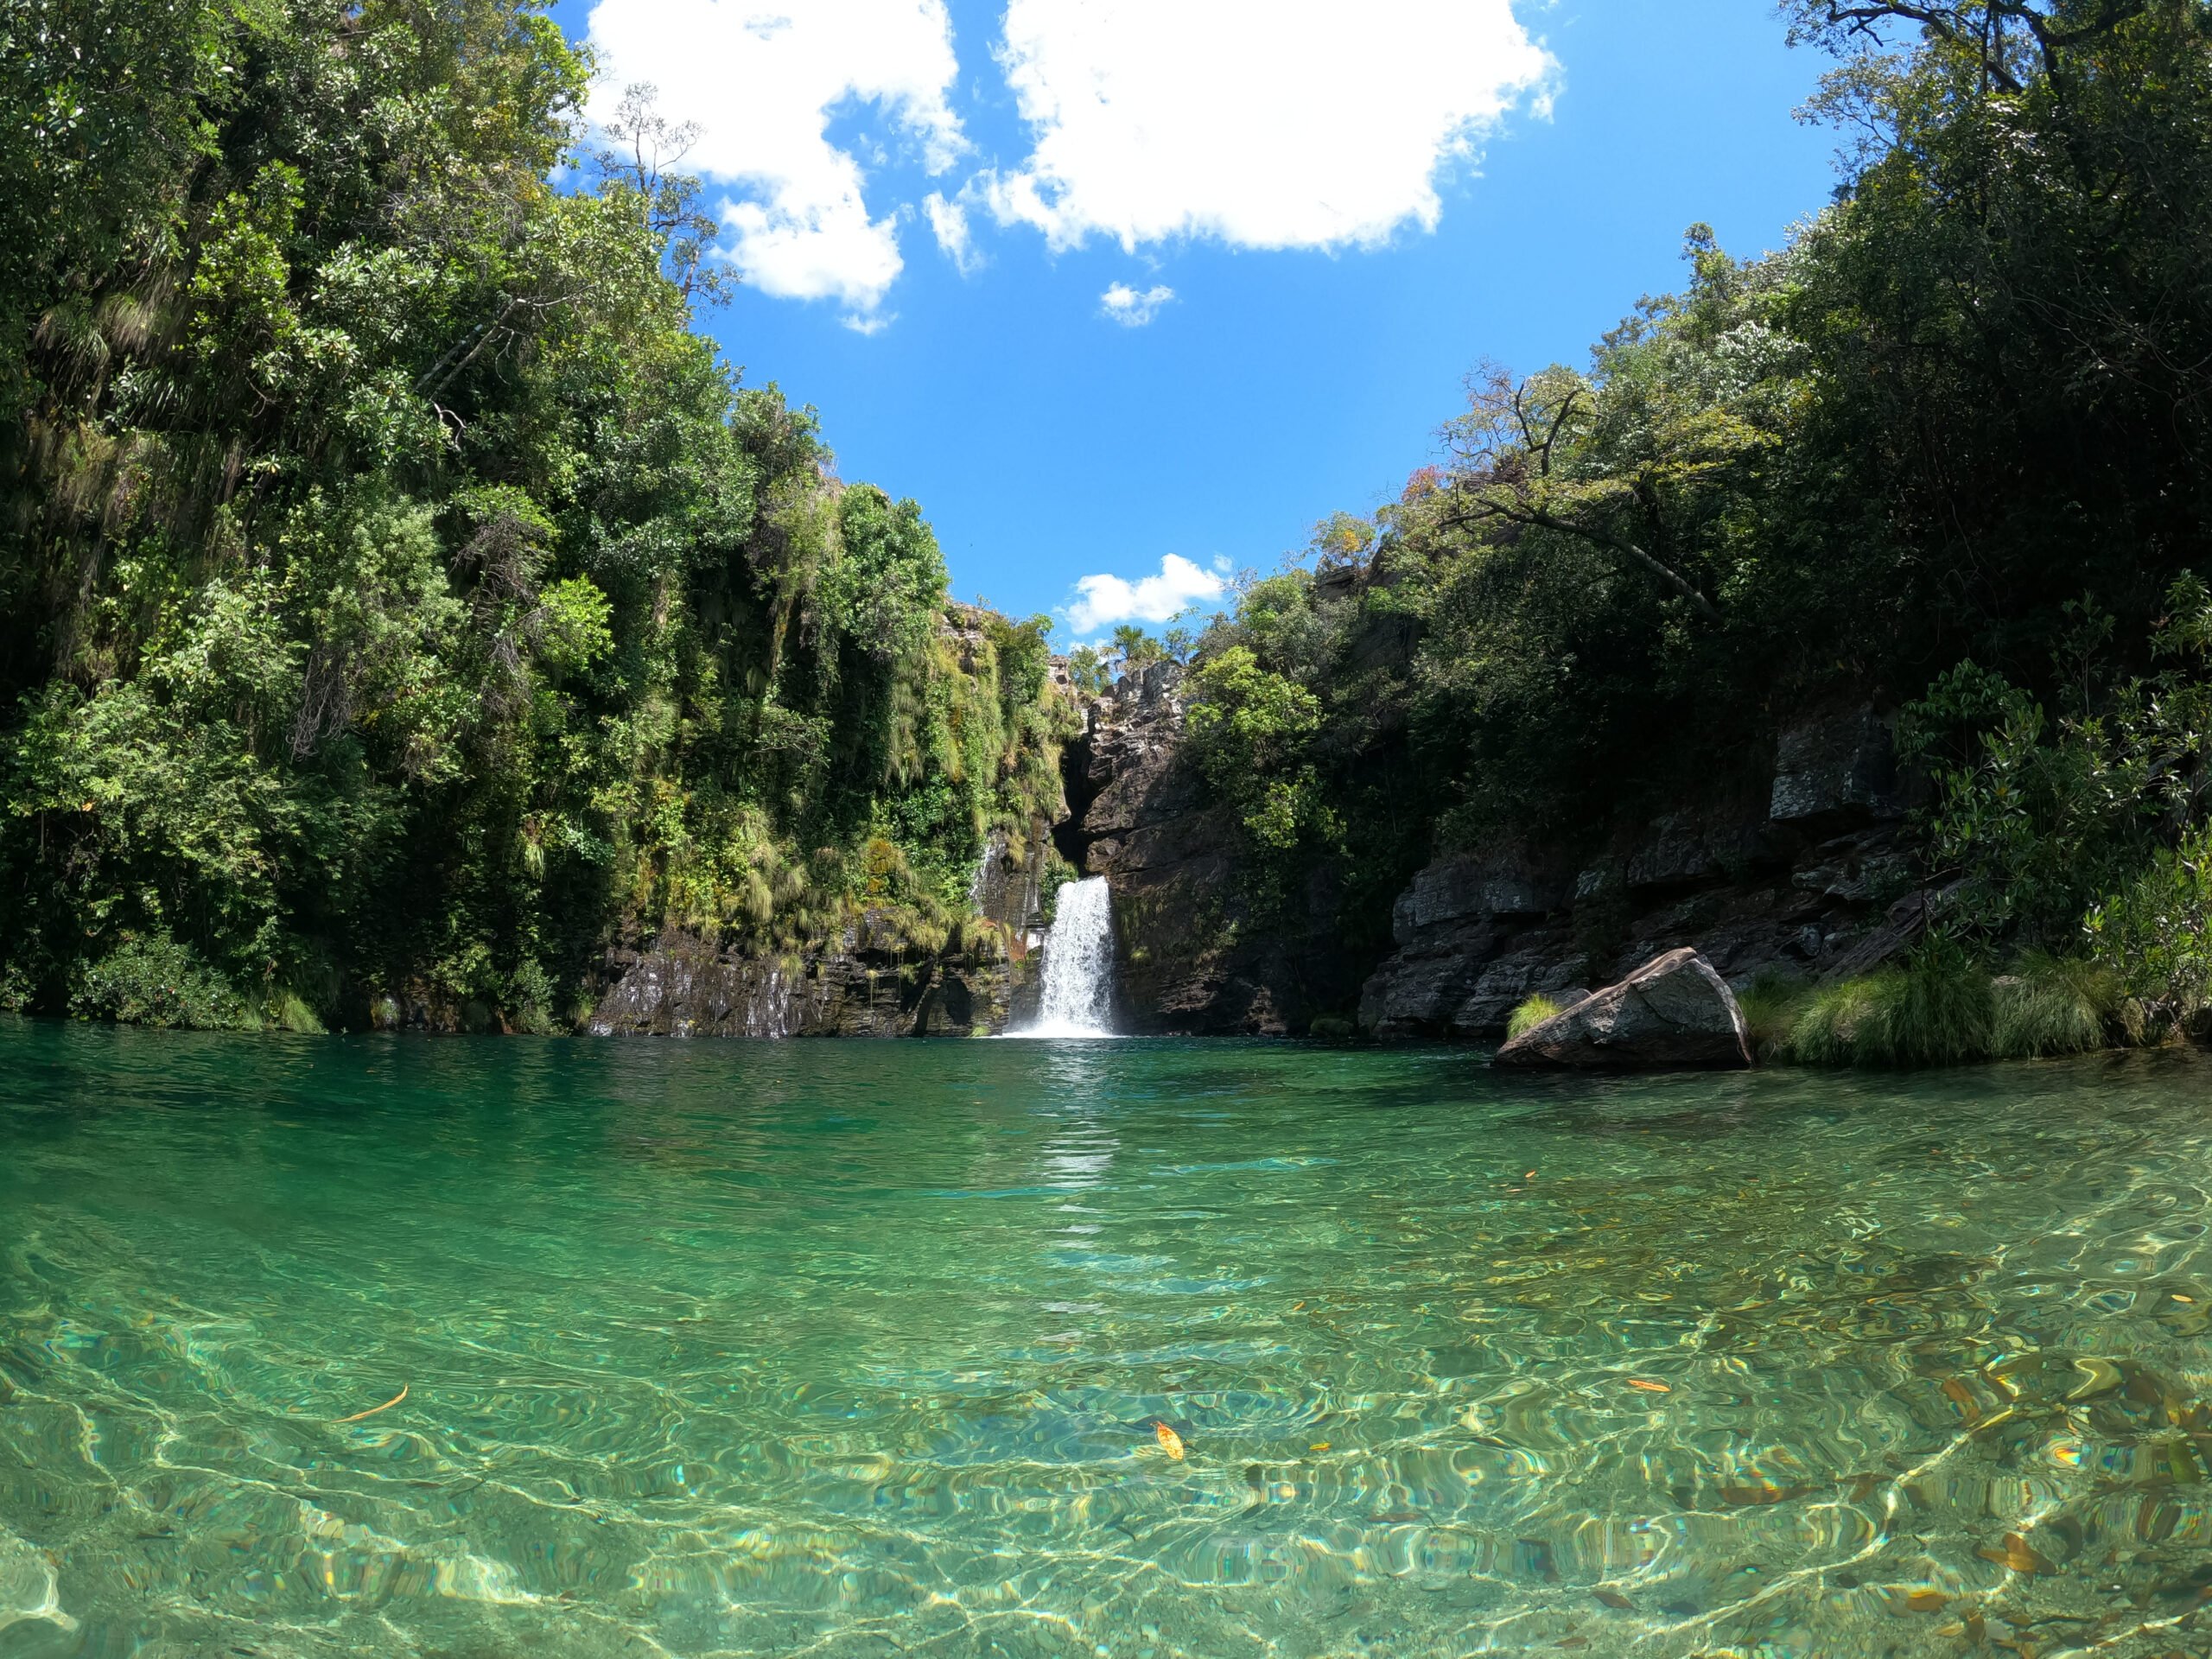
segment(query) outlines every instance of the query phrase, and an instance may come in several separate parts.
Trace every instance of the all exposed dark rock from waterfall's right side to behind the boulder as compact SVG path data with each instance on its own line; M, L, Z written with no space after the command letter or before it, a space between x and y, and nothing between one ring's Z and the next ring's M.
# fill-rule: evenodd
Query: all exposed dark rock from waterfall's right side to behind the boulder
M1697 949L1734 984L1825 978L1920 927L1911 783L1871 706L1767 739L1761 783L1582 843L1504 836L1438 858L1398 898L1380 962L1343 947L1325 876L1290 916L1245 907L1237 825L1208 805L1181 730L1181 668L1155 664L1097 699L1068 750L1055 838L1113 885L1128 1031L1303 1033L1358 1006L1385 1040L1495 1040L1531 993L1571 1000L1666 951Z

